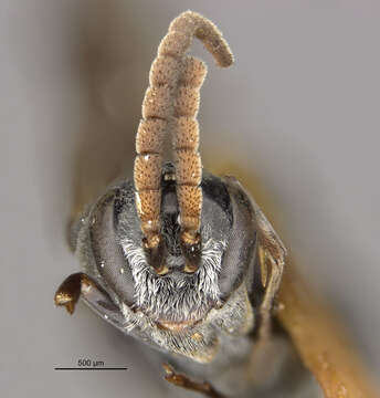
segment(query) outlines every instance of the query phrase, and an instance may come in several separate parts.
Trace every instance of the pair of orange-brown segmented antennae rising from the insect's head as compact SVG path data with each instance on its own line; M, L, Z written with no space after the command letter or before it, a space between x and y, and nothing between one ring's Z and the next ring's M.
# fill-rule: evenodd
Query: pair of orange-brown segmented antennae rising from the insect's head
M150 264L158 272L162 271L165 261L160 237L160 181L167 132L172 132L173 137L182 250L193 262L200 254L202 164L198 151L197 114L207 67L202 61L186 55L193 36L203 42L218 65L226 67L233 63L230 48L218 28L201 14L187 11L171 22L151 65L150 85L142 102L142 119L136 137L134 179L144 244Z

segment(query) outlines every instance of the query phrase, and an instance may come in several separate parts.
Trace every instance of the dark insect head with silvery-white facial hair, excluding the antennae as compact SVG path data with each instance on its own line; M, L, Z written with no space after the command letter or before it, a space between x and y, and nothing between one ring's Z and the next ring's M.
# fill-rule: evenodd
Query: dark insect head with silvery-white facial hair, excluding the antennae
M204 172L200 263L189 272L170 164L160 187L165 274L147 260L131 181L112 188L88 212L78 235L91 239L80 239L77 251L87 273L120 305L126 332L209 362L220 335L238 336L253 327L247 277L255 247L253 210L238 182Z

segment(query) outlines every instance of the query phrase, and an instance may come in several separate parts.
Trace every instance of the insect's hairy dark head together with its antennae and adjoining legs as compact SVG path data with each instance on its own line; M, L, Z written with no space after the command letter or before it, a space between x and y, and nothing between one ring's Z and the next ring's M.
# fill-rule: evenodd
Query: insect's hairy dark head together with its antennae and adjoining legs
M82 297L176 359L212 363L218 377L249 363L255 315L267 334L285 248L234 178L202 170L197 114L207 69L187 55L193 36L220 66L232 64L209 20L188 11L170 24L142 102L133 178L110 186L74 226L84 272L61 284L55 303L72 313ZM172 164L163 163L168 135Z

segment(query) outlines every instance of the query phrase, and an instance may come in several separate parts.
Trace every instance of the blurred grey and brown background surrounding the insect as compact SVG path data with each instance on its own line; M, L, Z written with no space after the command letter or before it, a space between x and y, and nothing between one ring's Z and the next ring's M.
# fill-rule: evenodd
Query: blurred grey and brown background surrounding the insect
M150 63L187 9L214 21L236 59L220 70L193 46L209 64L205 166L251 176L298 268L379 375L378 1L2 0L2 397L167 396L149 350L82 304L72 317L54 308L53 294L78 270L70 214L131 168ZM129 369L53 370L78 358Z

